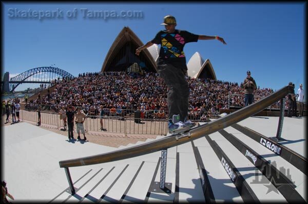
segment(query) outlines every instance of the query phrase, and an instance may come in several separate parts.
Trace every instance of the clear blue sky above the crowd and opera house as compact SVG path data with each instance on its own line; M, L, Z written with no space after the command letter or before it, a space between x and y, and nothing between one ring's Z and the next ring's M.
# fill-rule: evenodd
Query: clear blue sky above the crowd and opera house
M146 43L164 29L160 24L170 14L177 19L177 29L224 38L226 45L199 40L184 48L187 62L195 52L209 59L218 80L241 83L249 70L260 88L278 90L292 81L296 89L300 83L306 89L306 2L2 4L2 75L9 72L13 77L51 64L74 76L99 72L124 26ZM58 9L63 18L18 18L15 9L44 14ZM74 9L76 15L70 19ZM90 18L84 9L109 14L141 11L143 17ZM23 84L19 89L27 87Z

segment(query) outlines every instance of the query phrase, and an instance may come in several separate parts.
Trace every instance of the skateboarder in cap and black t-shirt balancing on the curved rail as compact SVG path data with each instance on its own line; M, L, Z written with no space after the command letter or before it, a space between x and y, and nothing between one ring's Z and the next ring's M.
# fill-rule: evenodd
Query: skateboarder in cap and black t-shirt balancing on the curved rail
M168 129L169 132L172 132L187 125L194 125L187 119L189 86L185 79L187 74L186 58L183 51L185 44L198 40L214 39L223 44L226 42L218 36L196 35L188 31L177 30L176 18L171 15L165 16L161 25L164 25L166 30L159 31L154 39L138 48L136 55L154 43L161 44L157 65L159 75L169 88L167 94Z

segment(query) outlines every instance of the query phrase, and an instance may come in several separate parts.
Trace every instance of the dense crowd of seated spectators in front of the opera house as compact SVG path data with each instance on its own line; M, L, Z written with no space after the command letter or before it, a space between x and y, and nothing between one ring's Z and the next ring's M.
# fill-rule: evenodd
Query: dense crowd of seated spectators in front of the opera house
M206 120L219 109L244 106L241 84L186 77L189 87L189 118ZM255 101L273 93L257 88ZM126 72L83 73L75 78L58 80L48 95L31 100L28 108L41 104L43 109L59 112L62 106L82 107L89 116L99 115L103 105L106 116L132 115L140 110L142 118L165 118L167 87L157 73L131 76ZM230 97L229 97L230 95ZM272 108L278 108L273 104Z

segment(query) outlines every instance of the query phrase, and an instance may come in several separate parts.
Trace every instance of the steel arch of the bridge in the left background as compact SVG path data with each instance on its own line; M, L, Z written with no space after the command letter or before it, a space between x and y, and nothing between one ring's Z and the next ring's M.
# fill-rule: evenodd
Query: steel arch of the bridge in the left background
M26 81L27 79L29 79L31 76L39 74L39 73L54 73L56 75L60 75L64 78L68 77L68 78L74 78L73 75L71 75L70 73L59 69L58 67L53 67L53 66L42 66L42 67L36 67L34 69L28 70L26 72L23 72L22 74L19 74L15 77L12 77L9 81L9 87L10 87L10 92L13 92L13 90L20 84L22 83L50 83L51 80L53 80L53 78L49 78L49 81ZM45 77L44 77L45 79Z

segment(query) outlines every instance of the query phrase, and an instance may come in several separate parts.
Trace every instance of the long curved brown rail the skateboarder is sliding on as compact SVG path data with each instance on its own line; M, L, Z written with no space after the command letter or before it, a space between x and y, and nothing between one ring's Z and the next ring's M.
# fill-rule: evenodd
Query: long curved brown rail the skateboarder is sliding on
M117 151L107 152L93 156L75 158L72 160L60 161L59 164L61 168L65 168L67 171L68 167L78 167L78 166L102 164L107 162L124 160L126 158L140 156L156 152L162 149L181 145L183 143L196 140L198 138L203 137L206 134L214 133L230 125L238 123L248 117L251 117L290 93L294 93L294 87L291 85L285 86L280 90L278 90L277 92L261 99L260 101L248 105L242 109L239 109L233 112L232 114L219 118L215 121L211 121L205 125L201 125L199 127L191 129L190 137L187 136L179 138L181 134L171 135L166 138L162 138L159 140L155 140L152 142L148 142L133 147L128 147Z

